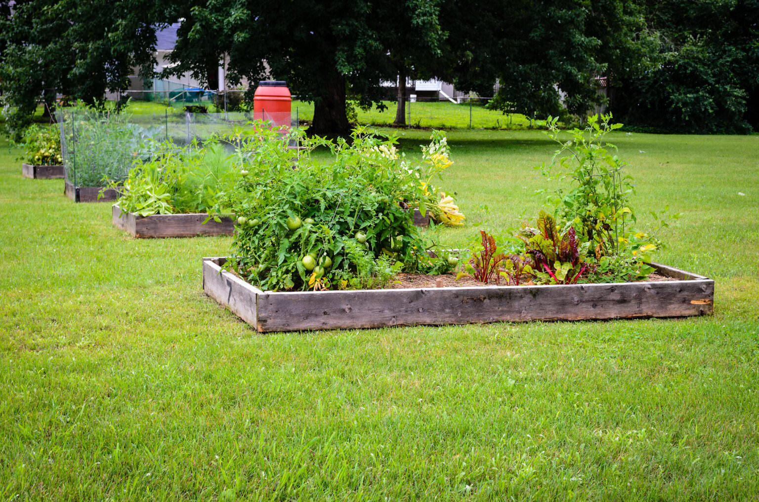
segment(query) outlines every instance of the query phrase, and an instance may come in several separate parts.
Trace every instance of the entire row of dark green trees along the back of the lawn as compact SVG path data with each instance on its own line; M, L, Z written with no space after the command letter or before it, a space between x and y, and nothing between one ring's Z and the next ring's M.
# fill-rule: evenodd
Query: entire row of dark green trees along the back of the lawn
M618 118L691 132L759 127L759 0L0 0L0 91L23 126L40 98L87 102L152 76L156 27L180 22L177 63L215 86L287 80L311 132L348 133L346 99L438 77L527 115L578 115L617 91ZM401 93L403 89L400 89ZM398 103L396 123L404 121Z

